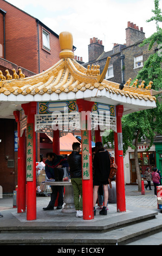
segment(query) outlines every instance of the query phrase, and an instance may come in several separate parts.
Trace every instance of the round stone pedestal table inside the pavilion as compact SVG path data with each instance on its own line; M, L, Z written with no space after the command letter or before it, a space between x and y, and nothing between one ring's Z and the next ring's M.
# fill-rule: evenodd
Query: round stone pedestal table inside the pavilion
M65 214L71 214L73 212L76 212L75 205L74 205L74 191L72 182L70 181L45 181L45 187L44 191L46 191L46 186L64 186L64 198L63 201L65 203L64 208L61 210L61 212Z

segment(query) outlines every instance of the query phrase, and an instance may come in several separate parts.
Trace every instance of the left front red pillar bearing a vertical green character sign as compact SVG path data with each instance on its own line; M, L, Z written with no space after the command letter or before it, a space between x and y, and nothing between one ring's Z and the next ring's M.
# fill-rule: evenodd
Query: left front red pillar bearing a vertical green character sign
M35 114L36 102L22 104L27 124L33 124L33 181L27 181L27 221L36 220L36 133L35 133Z

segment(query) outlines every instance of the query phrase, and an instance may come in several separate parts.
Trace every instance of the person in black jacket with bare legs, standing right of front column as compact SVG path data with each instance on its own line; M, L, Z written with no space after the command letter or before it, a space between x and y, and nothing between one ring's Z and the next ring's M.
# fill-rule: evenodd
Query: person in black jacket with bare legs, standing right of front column
M94 181L93 181L93 206L94 216L96 215L95 204L98 198L98 189L103 185L104 191L104 206L100 211L100 215L107 215L107 201L108 201L108 178L111 168L111 160L108 151L106 151L101 142L95 143L96 153L93 160L94 166Z

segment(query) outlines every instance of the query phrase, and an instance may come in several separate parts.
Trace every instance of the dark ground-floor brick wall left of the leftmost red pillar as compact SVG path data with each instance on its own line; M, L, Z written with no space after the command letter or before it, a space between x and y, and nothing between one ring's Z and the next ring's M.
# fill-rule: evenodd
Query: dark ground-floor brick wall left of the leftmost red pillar
M12 193L17 185L17 168L9 168L8 160L17 165L17 152L14 151L14 119L0 119L0 185L3 193ZM6 159L8 156L8 160Z

